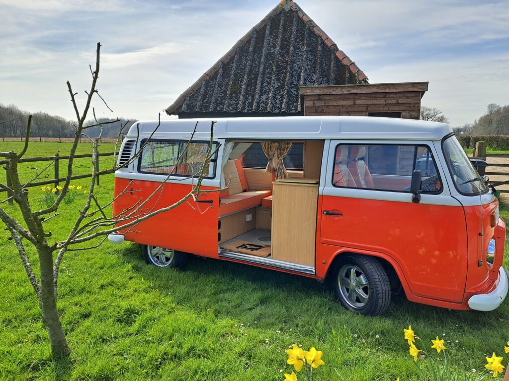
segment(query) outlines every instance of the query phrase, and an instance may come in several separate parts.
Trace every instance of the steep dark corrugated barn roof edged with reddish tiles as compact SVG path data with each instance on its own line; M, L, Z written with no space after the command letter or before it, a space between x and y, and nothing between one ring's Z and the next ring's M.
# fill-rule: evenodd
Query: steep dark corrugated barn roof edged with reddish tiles
M282 0L165 111L168 115L298 114L299 87L367 83L293 1Z

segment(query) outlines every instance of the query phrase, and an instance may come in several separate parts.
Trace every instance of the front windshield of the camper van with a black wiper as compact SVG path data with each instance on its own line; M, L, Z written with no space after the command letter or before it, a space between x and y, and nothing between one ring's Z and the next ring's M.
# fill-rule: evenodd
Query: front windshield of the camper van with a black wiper
M454 185L461 194L474 196L488 189L484 178L472 167L456 136L451 136L443 142L443 151Z

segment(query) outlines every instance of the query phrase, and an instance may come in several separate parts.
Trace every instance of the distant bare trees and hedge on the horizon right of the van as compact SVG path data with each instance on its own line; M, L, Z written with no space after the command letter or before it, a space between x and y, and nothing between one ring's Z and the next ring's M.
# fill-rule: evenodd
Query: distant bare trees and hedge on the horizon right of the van
M455 131L457 134L474 136L509 135L509 105L499 106L495 103L490 103L483 116L472 123L466 123L461 127L455 128Z

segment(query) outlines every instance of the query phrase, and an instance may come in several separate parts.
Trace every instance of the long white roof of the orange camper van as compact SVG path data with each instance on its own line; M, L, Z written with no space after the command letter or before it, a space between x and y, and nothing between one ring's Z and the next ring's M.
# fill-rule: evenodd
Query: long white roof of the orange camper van
M153 138L189 139L197 124L195 138L210 139L308 140L308 139L405 139L441 140L453 132L446 123L373 116L274 116L248 118L173 119L161 121ZM146 138L158 121L139 121L126 138Z

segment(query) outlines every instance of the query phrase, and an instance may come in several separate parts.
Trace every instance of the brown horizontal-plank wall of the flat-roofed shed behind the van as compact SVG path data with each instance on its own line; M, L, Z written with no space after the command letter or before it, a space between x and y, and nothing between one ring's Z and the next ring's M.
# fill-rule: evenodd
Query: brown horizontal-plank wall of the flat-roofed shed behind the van
M420 91L304 94L304 115L360 115L401 112L402 118L419 119Z

